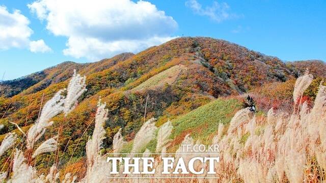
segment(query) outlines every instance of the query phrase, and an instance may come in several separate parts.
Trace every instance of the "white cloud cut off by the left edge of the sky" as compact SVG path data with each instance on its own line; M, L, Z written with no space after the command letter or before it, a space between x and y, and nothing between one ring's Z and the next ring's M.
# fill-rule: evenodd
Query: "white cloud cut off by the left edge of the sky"
M33 31L29 24L30 20L19 10L10 13L6 7L0 6L0 50L30 46L32 52L49 50L43 40L30 40Z

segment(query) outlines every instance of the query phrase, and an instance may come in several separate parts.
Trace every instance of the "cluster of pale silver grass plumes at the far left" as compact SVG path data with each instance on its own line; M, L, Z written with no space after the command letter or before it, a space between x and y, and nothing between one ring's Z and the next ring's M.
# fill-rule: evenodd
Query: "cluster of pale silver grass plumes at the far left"
M59 178L59 172L57 172L57 167L53 164L50 168L50 173L44 177L44 175L37 176L36 169L30 166L30 158L35 158L36 156L47 153L50 151L55 151L57 149L58 142L55 137L50 138L44 141L33 153L33 146L36 141L38 141L46 129L53 124L51 118L56 115L65 112L68 114L71 110L74 109L74 106L77 103L77 99L80 95L82 95L85 88L85 77L80 77L74 72L72 79L69 82L67 97L63 96L63 93L66 89L61 89L59 92L55 94L49 101L45 103L43 106L39 118L36 123L29 129L27 134L17 126L18 130L23 133L26 137L26 149L29 151L29 159L28 163L25 163L25 157L21 150L16 149L14 154L14 159L12 160L12 176L9 179L9 182L47 182L50 183L56 182ZM9 133L5 139L3 140L2 145L0 146L0 154L2 155L4 151L14 145L16 140L16 135L13 133ZM102 140L102 139L100 139ZM1 176L5 176L7 173L2 172ZM6 178L6 177L5 177Z

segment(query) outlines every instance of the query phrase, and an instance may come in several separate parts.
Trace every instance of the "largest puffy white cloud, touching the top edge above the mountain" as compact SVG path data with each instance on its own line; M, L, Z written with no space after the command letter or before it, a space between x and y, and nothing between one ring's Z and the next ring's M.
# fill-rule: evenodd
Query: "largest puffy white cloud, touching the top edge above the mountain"
M68 38L65 55L97 60L173 39L178 24L155 5L130 0L39 0L28 5L46 28Z

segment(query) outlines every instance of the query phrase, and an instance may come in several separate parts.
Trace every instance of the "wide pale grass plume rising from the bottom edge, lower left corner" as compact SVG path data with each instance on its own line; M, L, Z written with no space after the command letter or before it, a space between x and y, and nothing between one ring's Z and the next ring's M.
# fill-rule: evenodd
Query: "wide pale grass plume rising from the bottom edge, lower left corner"
M15 157L13 160L12 167L12 183L21 183L21 182L34 182L34 170L31 166L27 165L25 162L24 155L22 151L16 149Z

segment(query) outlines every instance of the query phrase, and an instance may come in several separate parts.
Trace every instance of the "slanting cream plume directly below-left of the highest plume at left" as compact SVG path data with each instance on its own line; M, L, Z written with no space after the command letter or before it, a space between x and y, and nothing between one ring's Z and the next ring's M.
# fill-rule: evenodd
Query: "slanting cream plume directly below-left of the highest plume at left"
M27 133L26 147L28 149L32 148L33 142L41 138L46 128L53 124L53 121L50 121L50 119L63 111L64 97L61 95L63 91L63 89L59 90L59 92L43 106L39 119Z

